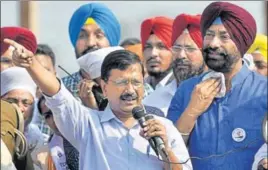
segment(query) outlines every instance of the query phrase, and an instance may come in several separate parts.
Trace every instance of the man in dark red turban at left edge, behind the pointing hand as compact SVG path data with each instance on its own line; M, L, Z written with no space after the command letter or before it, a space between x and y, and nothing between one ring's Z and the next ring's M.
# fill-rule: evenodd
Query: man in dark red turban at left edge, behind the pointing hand
M22 44L33 53L37 48L36 38L30 30L22 27L1 27L1 72L13 66L11 57L14 48L4 43L5 38Z

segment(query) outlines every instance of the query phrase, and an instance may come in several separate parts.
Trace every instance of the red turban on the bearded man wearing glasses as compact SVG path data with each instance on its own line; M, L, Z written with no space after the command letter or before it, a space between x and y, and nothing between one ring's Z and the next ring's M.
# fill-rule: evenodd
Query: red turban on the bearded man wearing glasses
M202 48L202 36L200 31L200 19L201 15L187 15L181 14L176 17L173 22L172 30L172 44L176 39L187 29L191 38L194 40L199 48Z

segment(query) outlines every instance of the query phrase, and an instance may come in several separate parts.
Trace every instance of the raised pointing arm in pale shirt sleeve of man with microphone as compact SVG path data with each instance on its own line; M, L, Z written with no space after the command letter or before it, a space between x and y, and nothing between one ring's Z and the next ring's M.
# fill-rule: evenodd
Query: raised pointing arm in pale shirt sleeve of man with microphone
M90 129L89 122L92 122L92 119L89 112L92 110L83 107L54 74L39 64L32 52L15 41L5 39L5 43L15 47L12 56L14 64L26 68L45 94L46 104L53 112L59 131L79 149L83 137Z

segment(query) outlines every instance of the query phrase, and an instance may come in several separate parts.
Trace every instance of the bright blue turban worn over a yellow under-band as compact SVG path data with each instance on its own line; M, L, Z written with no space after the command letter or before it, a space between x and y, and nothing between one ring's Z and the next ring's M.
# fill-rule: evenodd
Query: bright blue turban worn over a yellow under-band
M120 41L121 28L112 11L101 3L90 3L78 8L69 23L69 36L73 46L76 46L81 28L91 17L105 33L110 46L117 46Z

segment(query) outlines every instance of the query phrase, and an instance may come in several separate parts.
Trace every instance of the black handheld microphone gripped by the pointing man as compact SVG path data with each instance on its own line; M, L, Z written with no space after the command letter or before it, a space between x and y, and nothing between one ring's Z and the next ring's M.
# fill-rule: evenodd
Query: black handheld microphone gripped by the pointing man
M150 119L154 119L153 115L149 115L149 114L145 113L143 107L140 107L140 106L134 107L132 109L132 114L133 114L133 117L136 120L138 120L138 122L142 128L144 128L143 124L145 121L150 120ZM151 147L153 148L153 150L155 151L157 156L159 156L159 154L160 154L163 159L168 158L168 154L165 150L164 141L162 140L161 137L159 137L159 136L151 137L149 139L149 143L150 143Z

